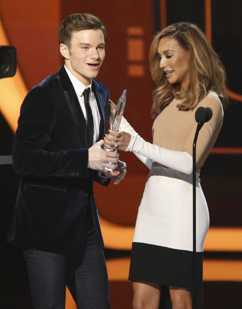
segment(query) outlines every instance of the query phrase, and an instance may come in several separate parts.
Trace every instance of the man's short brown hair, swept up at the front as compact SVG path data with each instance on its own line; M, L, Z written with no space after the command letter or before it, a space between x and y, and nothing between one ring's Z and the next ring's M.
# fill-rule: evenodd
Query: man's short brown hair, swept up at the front
M72 33L81 30L102 30L104 37L106 29L99 18L91 14L72 14L67 16L59 27L59 44L71 48Z

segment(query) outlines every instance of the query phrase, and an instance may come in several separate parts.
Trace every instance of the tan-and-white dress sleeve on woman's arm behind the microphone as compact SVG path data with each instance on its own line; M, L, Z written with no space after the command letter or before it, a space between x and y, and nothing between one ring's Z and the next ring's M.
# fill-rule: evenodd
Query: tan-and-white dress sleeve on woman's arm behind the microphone
M197 139L197 156L198 161L206 148L209 146L212 135L221 124L222 107L221 103L216 98L209 98L201 102L199 106L211 107L213 116L210 122L205 123L200 130L199 139ZM194 125L191 133L187 139L183 151L174 151L162 148L160 146L151 144L135 135L131 135L131 141L126 151L132 151L135 154L143 155L151 161L155 161L166 167L181 171L185 174L191 174L193 170L193 140L197 129L197 123L194 119Z

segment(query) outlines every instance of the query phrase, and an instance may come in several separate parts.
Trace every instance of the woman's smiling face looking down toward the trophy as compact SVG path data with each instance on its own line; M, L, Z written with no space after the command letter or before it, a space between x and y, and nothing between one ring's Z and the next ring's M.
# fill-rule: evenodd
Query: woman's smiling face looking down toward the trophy
M186 90L189 84L189 53L170 37L160 40L157 53L160 68L169 83L180 83L181 88L176 89L177 91Z

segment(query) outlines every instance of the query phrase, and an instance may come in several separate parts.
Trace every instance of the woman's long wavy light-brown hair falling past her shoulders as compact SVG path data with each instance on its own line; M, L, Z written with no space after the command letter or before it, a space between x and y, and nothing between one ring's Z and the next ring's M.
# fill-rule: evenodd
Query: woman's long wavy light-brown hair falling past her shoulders
M226 73L222 62L213 50L206 35L194 24L180 22L170 25L154 36L150 50L151 76L156 84L153 91L152 118L174 99L172 90L176 84L170 84L159 67L157 49L160 39L170 37L189 53L190 81L187 97L177 107L186 111L196 108L197 104L210 90L218 94L224 109L228 104L226 92Z

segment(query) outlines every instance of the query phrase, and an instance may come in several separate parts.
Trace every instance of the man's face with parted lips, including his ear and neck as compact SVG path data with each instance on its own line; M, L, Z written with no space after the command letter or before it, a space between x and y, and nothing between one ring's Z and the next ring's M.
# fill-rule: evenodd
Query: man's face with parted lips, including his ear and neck
M71 47L61 44L60 51L68 70L88 86L105 58L104 34L101 29L73 32Z

